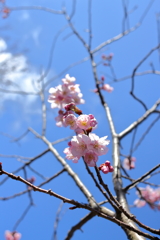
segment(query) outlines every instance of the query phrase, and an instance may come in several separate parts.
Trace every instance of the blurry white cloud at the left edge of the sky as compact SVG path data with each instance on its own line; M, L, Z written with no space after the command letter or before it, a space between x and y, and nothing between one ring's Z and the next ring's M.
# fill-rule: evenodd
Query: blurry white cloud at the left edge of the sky
M3 52L2 52L3 50ZM4 51L5 50L5 51ZM1 103L6 100L20 100L25 97L25 103L35 101L35 95L20 95L5 93L7 91L38 92L38 73L28 65L24 55L13 55L7 51L7 44L0 39L0 95Z

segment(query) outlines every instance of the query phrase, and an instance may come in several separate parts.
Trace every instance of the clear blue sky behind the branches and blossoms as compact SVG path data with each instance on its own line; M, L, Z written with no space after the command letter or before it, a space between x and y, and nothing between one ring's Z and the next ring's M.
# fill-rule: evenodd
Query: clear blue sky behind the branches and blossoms
M22 6L22 4L24 6L38 5L60 10L62 6L64 6L64 1L24 0L23 3L20 0L17 0L16 2L11 0L7 1L8 7L18 7ZM134 1L134 3L131 1L129 2L129 10L133 9L135 6L138 7L132 14L130 14L130 27L134 26L139 21L148 4L149 1L144 0L140 3L139 1ZM65 6L68 13L70 13L72 1L65 1ZM131 75L133 69L139 61L158 44L156 14L159 11L159 1L155 0L146 15L143 24L128 36L123 37L121 40L105 47L103 51L96 55L96 62L98 63L101 61L102 54L109 54L112 52L114 53L112 64L117 79ZM92 49L107 39L110 39L122 32L123 16L122 2L119 0L92 1ZM88 1L77 1L76 12L72 21L79 33L86 41L88 41ZM35 91L32 82L36 81L41 72L45 71L47 68L52 42L58 31L66 25L67 23L63 15L54 15L34 10L14 11L11 12L8 18L1 19L0 27L3 30L1 31L0 38L1 41L3 40L7 45L5 54L10 54L9 57L11 59L15 54L21 54L21 58L18 58L17 60L17 65L24 68L28 67L27 72L24 72L23 74L12 73L7 76L18 84L20 89ZM1 52L1 56L2 53L3 52ZM48 81L55 75L59 74L70 64L87 56L87 51L81 42L76 38L76 36L71 35L71 30L67 27L57 39L52 56L51 68L45 81ZM138 72L150 70L151 62L153 63L154 68L159 70L160 62L157 51L141 65ZM129 94L131 90L131 79L121 82L113 82L109 77L107 77L107 75L111 76L111 72L108 67L100 64L97 70L98 76L100 77L101 75L105 75L106 82L110 83L114 87L114 91L112 93L109 94L104 92L104 97L111 108L116 130L117 132L121 132L133 121L142 116L144 114L144 109L139 103L135 102ZM95 133L100 137L108 135L108 138L111 139L104 110L100 105L99 98L92 91L95 88L95 83L89 61L70 68L69 71L57 78L46 88L45 96L48 108L47 138L50 141L55 141L59 138L73 135L73 132L71 132L70 129L62 129L55 126L54 118L57 115L57 110L51 110L50 105L47 103L49 87L58 85L61 82L61 78L67 73L71 76L75 76L77 83L80 84L81 91L86 101L86 104L81 106L83 112L86 114L94 114L98 120L98 128ZM159 75L149 74L136 77L135 92L138 97L145 101L148 108L150 108L159 98L159 80ZM35 88L37 88L37 86ZM9 86L8 89L11 89L11 87ZM1 133L6 133L16 138L23 134L29 126L41 133L42 120L40 98L1 93L0 117L2 123L0 126ZM138 128L135 142L140 139L141 135L155 118L156 115L149 117ZM150 168L159 163L160 131L158 129L160 129L159 122L155 124L141 146L133 154L136 157L137 162L136 169L132 170L130 173L132 178L136 179L140 177L142 174L150 170ZM129 154L132 134L133 133L129 134L122 141L122 153L125 155ZM26 157L34 157L47 148L44 143L36 139L31 133L23 138L20 141L20 144L11 142L11 139L4 136L4 134L0 135L0 140L0 154L16 154ZM55 146L63 157L63 149L66 146L67 142L63 142ZM100 157L99 164L103 163L105 160L112 161L112 143L109 145L109 153L106 156ZM1 162L3 163L4 170L8 172L14 171L22 164L14 158L2 158ZM80 178L93 193L96 200L102 201L103 196L97 191L92 180L86 173L83 162L80 161L78 164L73 164L71 162L68 163L71 167L73 167L73 170L79 174ZM45 156L33 163L32 167L40 173L43 173L46 177L50 177L62 169L51 153L47 153ZM20 174L24 177L23 172L20 172ZM31 177L32 175L33 173L28 170L28 177ZM105 175L104 180L107 182L114 194L111 174ZM36 176L35 184L38 185L41 181L42 179ZM151 179L151 182L153 183L158 183L158 181L158 176ZM124 185L127 183L127 181L124 181ZM144 187L144 185L140 186ZM26 187L22 183L8 180L1 186L1 197L10 196L16 192L23 191L25 188ZM45 188L52 188L53 191L70 199L73 198L80 202L86 202L86 199L81 193L79 193L75 184L66 173L63 173L62 176L58 177L51 183L46 184ZM127 198L129 204L132 205L136 198L135 189L131 191ZM22 233L23 240L51 239L55 214L60 201L58 199L45 196L42 193L33 193L33 199L35 206L31 208L23 222L20 223L17 231ZM22 212L28 204L29 199L27 195L10 201L0 202L0 212L1 216L3 216L3 221L1 222L0 227L0 239L3 239L5 230L12 230L15 222L20 218ZM77 223L80 218L87 214L87 211L85 210L76 209L74 211L70 211L68 208L69 205L64 204L63 211L65 213L63 214L58 226L58 239L64 239L72 225ZM157 229L160 228L159 212L151 210L148 206L141 209L133 208L132 212L145 224ZM83 233L81 231L77 231L73 239L106 239L106 237L110 239L117 239L117 236L120 239L126 239L124 232L119 227L98 217L92 219L84 225L82 229Z

